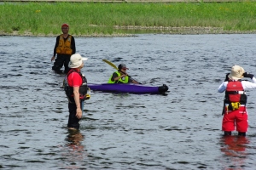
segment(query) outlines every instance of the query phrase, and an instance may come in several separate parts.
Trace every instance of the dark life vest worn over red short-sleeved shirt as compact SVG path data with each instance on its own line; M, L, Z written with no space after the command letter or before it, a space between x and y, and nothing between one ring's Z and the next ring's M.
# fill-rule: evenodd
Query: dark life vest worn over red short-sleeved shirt
M81 74L81 72L75 70L75 69L71 69L68 73L67 73L67 77L73 73L73 72L77 72L79 73L80 77L82 78L82 84L79 86L79 98L80 100L84 100L86 99L86 94L87 94L87 91L88 91L88 86L87 86L87 80L86 78L84 77L84 75ZM67 77L65 77L64 79L64 90L65 90L65 93L67 95L67 98L69 99L69 101L71 102L74 102L74 99L73 99L73 87L69 87L68 86L68 83L67 83Z

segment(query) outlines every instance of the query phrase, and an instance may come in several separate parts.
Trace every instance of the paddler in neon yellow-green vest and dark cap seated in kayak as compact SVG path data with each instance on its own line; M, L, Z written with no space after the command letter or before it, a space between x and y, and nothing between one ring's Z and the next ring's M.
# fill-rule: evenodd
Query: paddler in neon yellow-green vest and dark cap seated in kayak
M119 70L113 72L112 76L109 78L108 83L134 83L140 84L139 82L133 80L126 73L126 70L129 70L126 65L120 64Z

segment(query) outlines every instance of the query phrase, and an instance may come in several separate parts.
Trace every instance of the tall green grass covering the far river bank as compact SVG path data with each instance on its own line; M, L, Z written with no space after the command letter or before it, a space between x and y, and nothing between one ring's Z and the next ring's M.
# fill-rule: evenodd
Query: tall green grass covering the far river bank
M121 33L114 26L218 27L255 31L256 3L1 3L0 34L18 31L45 36Z

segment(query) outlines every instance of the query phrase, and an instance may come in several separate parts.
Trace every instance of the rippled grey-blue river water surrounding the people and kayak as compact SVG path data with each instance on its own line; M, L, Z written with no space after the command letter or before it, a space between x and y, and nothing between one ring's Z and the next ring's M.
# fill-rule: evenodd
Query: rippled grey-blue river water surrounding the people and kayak
M0 168L253 169L256 92L248 90L246 138L223 138L224 94L232 65L256 74L256 35L76 37L90 83L115 65L168 95L91 92L79 132L67 130L63 75L51 71L55 37L0 37Z

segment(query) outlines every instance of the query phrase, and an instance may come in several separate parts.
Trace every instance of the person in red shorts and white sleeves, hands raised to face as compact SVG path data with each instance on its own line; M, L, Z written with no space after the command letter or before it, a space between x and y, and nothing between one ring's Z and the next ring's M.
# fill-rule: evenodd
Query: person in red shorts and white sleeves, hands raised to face
M252 82L242 81L243 77L251 78ZM225 91L222 121L224 136L230 136L235 129L239 136L246 136L248 121L245 89L248 88L256 88L256 78L253 74L245 72L241 66L233 65L224 82L218 87L219 93Z

